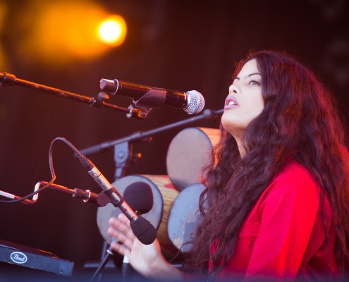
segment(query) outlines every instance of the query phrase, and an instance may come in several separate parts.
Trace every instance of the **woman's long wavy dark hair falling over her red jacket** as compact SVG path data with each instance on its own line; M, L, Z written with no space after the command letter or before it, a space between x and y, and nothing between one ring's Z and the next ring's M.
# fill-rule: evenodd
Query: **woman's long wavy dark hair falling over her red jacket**
M324 194L329 197L336 222L336 259L340 271L347 273L348 151L336 103L309 68L283 52L250 52L238 63L235 75L251 59L257 60L262 75L264 109L245 130L243 159L235 139L221 127L221 142L204 173L203 221L186 255L185 268L207 272L210 246L218 238L219 247L211 256L213 269L226 266L247 215L271 180L293 159L319 183L320 206Z

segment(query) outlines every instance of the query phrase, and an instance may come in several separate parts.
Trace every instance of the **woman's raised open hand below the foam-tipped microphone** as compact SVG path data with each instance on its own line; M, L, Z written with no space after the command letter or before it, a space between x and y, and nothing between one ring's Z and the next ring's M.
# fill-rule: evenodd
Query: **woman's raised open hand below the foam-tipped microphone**
M111 248L120 255L128 257L133 269L146 277L180 280L181 272L175 266L166 262L161 254L159 241L156 239L150 245L140 243L130 228L130 221L124 214L118 219L111 217L108 233L118 242L112 242Z

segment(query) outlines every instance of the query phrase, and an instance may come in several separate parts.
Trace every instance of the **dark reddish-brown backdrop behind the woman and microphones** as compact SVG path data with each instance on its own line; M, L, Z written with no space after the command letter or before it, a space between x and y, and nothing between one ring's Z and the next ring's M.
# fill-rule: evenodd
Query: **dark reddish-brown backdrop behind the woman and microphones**
M17 78L96 97L101 78L126 80L204 95L205 109L221 109L234 64L250 49L278 49L300 59L333 90L341 114L348 118L349 36L348 1L96 1L128 24L125 42L90 60L70 65L21 59L16 53L21 33L13 23L25 14L29 1L2 1L2 70ZM49 7L51 1L41 1ZM27 23L26 28L30 28ZM62 28L64 23L62 23ZM28 54L30 56L30 54ZM111 103L128 106L130 99L113 97ZM39 180L48 181L49 145L66 137L78 149L146 131L189 118L170 107L134 120L109 109L97 109L23 87L0 89L0 190L24 196ZM214 127L202 121L190 126ZM142 159L128 174L166 174L169 142L183 128L154 135L149 143L135 144ZM54 147L56 183L68 188L100 192L73 152L63 142ZM104 176L114 178L112 149L91 156ZM1 198L3 199L3 198ZM102 236L97 207L70 195L47 190L36 204L0 203L0 238L53 252L75 262L83 271L86 261L98 260ZM0 264L6 269L7 264Z

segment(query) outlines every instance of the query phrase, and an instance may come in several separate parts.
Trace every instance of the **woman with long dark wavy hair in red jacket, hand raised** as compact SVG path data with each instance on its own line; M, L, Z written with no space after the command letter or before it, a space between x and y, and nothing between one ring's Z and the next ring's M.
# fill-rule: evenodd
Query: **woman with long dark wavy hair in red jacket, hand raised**
M241 61L205 173L185 269L219 278L310 280L349 270L349 169L344 133L326 88L286 54ZM147 277L181 279L159 243L142 245L124 216L111 247Z

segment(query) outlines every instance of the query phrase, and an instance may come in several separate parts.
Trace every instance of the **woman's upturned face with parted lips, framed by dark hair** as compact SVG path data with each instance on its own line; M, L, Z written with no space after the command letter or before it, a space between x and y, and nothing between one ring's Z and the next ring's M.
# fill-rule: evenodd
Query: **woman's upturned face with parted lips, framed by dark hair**
M256 59L247 61L229 87L221 123L235 138L241 137L247 125L264 108L262 76Z

